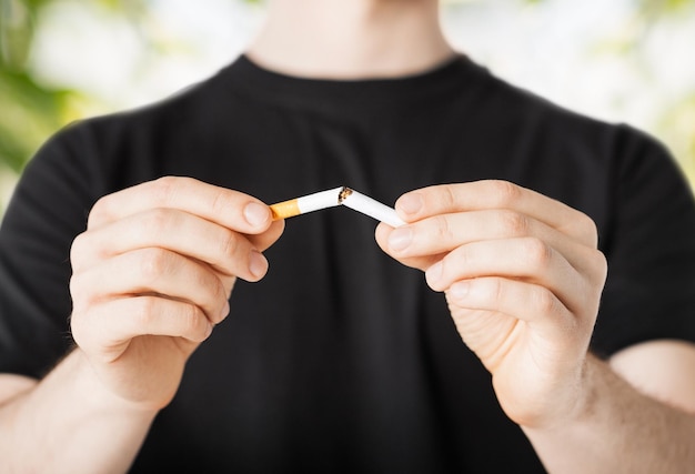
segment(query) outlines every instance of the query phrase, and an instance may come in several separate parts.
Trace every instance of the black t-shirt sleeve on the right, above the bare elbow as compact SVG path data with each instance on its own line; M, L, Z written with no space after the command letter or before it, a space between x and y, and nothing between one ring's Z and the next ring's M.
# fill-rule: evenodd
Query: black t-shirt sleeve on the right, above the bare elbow
M602 356L651 340L695 342L695 203L668 152L621 129L611 215L601 235L608 279L593 349Z

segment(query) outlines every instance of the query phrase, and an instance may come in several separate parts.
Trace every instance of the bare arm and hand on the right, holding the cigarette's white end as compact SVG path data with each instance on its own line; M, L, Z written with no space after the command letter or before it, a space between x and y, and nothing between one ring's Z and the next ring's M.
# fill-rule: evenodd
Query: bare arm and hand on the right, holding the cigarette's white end
M416 190L396 211L409 225L380 224L379 244L444 292L463 342L550 472L695 465L693 344L633 346L613 369L588 353L606 262L586 215L500 181Z

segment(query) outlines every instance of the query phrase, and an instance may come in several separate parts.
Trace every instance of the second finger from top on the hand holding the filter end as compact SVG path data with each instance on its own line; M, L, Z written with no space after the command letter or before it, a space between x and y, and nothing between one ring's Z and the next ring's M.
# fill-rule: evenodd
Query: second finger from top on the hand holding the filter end
M73 242L71 260L73 268L81 270L104 258L145 248L191 256L248 281L258 281L268 271L268 261L244 235L171 209L143 211L81 234Z

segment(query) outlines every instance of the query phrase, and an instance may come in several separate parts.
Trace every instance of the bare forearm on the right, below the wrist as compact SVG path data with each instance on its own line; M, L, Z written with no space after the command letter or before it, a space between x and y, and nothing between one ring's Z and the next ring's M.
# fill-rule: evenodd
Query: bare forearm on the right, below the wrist
M695 416L638 393L595 357L576 416L524 428L551 473L684 473L695 465Z

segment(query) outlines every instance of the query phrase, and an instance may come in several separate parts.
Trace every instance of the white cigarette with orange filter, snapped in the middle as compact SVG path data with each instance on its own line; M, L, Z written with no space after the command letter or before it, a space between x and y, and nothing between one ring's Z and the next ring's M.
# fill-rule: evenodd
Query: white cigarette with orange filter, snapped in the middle
M334 188L332 190L279 202L271 204L270 209L273 213L273 220L276 221L312 211L319 211L321 209L334 208L336 205L345 205L393 228L405 224L393 208L389 208L348 186Z

